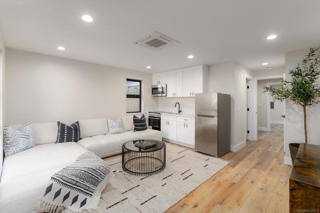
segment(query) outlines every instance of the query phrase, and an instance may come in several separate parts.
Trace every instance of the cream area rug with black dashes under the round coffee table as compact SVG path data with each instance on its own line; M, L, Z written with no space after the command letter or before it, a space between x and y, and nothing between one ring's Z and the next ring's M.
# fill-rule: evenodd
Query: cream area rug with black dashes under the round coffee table
M104 158L115 176L101 194L100 213L162 213L229 162L166 145L166 166L158 174L134 176L122 171L121 155Z

